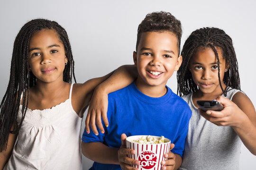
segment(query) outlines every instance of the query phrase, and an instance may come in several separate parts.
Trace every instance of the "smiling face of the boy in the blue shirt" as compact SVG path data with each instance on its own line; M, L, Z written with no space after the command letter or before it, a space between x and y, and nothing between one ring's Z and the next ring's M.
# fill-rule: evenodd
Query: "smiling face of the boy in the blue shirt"
M139 74L137 82L164 89L182 63L177 44L177 37L169 31L142 33L137 52L133 54Z

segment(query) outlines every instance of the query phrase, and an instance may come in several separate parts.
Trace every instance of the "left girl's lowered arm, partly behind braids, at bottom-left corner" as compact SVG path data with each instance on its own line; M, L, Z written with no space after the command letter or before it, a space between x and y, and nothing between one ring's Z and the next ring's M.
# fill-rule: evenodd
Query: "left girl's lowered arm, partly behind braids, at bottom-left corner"
M14 125L12 126L12 129L14 128ZM16 134L9 134L8 142L7 142L7 148L6 150L3 150L0 152L0 170L2 170L9 160L14 144L16 142L17 135Z

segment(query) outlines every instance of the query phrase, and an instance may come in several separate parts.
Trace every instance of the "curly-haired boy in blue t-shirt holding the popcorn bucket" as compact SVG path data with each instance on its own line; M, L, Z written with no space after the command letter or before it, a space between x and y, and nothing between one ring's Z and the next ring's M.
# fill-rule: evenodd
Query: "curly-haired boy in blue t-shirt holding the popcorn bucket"
M90 170L135 170L129 164L139 161L127 157L134 151L125 148L126 135L169 138L175 146L165 154L169 159L162 164L169 166L163 169L180 167L192 113L166 83L182 63L181 34L180 21L166 12L148 14L138 26L137 52L133 53L136 81L108 95L111 126L104 127L104 134L83 133L82 153L95 161Z

